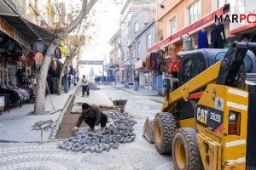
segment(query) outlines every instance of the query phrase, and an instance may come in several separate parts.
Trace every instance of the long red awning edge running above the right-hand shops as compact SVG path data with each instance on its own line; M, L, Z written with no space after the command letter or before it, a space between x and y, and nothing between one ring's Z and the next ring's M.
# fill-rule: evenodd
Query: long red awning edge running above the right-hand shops
M214 16L215 14L217 14L218 16L220 14L224 14L224 8L227 8L226 6L218 8L217 10L213 11L211 14L207 14L205 17L201 18L200 20L197 20L195 23L183 28L180 31L177 31L175 34L173 34L170 37L167 37L166 39L157 42L156 44L154 44L154 46L148 48L148 52L153 51L154 49L157 48L161 48L162 46L166 45L166 43L171 42L172 40L174 40L177 37L182 37L183 35L189 33L189 31L194 31L195 29L209 23L212 22L214 23Z

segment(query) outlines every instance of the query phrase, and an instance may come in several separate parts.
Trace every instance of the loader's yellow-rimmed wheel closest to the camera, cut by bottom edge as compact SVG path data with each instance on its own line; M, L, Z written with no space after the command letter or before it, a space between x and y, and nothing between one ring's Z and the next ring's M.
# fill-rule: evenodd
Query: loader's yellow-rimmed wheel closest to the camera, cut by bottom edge
M172 159L176 170L204 169L198 150L195 128L178 128L172 143Z

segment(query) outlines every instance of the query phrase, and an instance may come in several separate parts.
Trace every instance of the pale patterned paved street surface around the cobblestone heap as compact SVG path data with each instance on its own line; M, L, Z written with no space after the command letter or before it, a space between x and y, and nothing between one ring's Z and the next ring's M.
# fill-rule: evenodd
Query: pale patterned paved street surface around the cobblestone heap
M161 156L154 144L149 144L142 135L146 118L154 118L155 113L160 111L161 104L152 99L160 97L134 95L109 85L97 87L100 90L91 90L90 96L84 98L78 89L73 103L83 101L96 105L113 105L109 98L127 99L125 111L137 121L134 126L134 142L119 144L117 150L102 153L60 150L57 149L60 142L57 140L44 144L0 143L0 169L174 169L172 156Z

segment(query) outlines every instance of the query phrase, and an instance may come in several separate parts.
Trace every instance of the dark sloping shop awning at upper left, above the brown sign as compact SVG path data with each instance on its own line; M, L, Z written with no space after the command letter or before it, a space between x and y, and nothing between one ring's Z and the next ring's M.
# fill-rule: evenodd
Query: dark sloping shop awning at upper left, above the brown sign
M20 32L24 37L31 41L36 41L41 38L44 42L51 42L54 38L53 34L44 28L32 24L16 14L0 13L3 20L6 20L11 26Z

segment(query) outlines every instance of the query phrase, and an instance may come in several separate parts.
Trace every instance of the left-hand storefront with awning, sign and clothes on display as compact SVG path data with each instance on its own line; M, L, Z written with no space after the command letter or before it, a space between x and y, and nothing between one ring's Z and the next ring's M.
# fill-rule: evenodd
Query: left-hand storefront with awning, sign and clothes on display
M33 48L39 38L20 16L0 14L0 95L8 95L10 104L34 101L38 65L44 59L43 54L37 58Z

